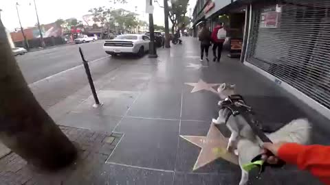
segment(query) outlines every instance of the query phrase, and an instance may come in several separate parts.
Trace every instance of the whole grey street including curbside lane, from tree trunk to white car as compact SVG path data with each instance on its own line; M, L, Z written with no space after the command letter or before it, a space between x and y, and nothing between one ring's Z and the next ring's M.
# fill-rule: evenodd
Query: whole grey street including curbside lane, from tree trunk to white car
M98 40L80 45L66 45L17 56L25 80L45 110L88 86L78 52L79 47L89 61L94 82L122 64L133 64L136 60L131 56L111 58L103 51L103 42L104 40Z

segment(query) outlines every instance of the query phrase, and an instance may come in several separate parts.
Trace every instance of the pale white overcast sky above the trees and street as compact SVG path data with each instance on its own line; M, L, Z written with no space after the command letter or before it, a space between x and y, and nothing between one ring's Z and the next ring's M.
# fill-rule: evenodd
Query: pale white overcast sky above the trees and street
M100 6L113 7L113 3L109 0L35 0L41 24L54 23L58 18L77 18L82 21L82 16L89 14L91 8ZM113 8L124 8L131 12L140 14L139 18L143 21L148 21L148 14L145 13L146 0L127 0L129 3L124 5L116 4ZM163 5L162 0L158 0L160 5ZM34 10L33 0L1 0L0 9L1 20L3 25L10 31L19 27L19 18L17 17L16 3L19 3L19 16L21 17L22 26L33 27L36 24L36 12ZM196 0L190 0L190 7L195 6ZM30 5L31 4L31 5ZM164 9L160 8L157 3L154 10L154 23L156 25L164 25Z

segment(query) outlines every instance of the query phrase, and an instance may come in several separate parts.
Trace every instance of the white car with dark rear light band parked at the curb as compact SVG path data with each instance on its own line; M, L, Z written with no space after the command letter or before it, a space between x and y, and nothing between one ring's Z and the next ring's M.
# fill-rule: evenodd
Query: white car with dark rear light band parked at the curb
M115 37L113 40L104 42L105 53L111 56L118 54L134 53L143 56L149 50L150 38L144 34L124 34Z

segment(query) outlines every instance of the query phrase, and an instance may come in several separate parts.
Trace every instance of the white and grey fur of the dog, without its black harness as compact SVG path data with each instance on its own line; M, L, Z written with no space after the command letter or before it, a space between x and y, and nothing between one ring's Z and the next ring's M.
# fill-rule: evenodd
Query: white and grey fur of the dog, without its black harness
M218 88L219 97L221 100L225 99L230 95L234 95L235 85L227 86L226 84L221 84ZM219 101L218 105L221 105ZM225 115L229 110L221 109L219 111L219 117L217 119L212 119L214 124L225 123ZM245 121L243 116L230 116L226 126L231 132L230 138L228 140L227 150L232 148L237 148L235 154L239 156L239 166L241 167L242 175L239 185L245 185L248 183L249 174L245 171L242 166L251 162L251 160L258 156L261 152L261 140L254 134L250 125ZM267 134L267 136L272 140L273 143L278 142L292 142L307 144L309 143L309 134L311 130L311 125L307 119L296 119L291 121L280 130ZM236 146L234 146L236 144Z

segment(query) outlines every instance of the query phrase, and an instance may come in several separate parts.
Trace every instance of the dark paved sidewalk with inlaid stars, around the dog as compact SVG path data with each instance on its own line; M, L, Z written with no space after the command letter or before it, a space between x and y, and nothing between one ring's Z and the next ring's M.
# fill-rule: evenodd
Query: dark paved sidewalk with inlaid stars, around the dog
M98 80L102 107L92 108L85 87L47 110L80 151L72 167L45 173L10 153L0 160L0 184L239 184L241 169L234 156L222 152L225 143L206 151L194 140L205 140L212 130L219 97L210 87L223 82L236 84L269 130L308 117L313 143L330 144L327 119L224 53L220 64L200 63L199 42L183 40L159 49L157 59L132 59ZM229 137L225 127L218 135ZM286 166L269 169L260 179L251 174L249 184L320 182Z

